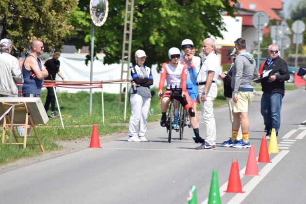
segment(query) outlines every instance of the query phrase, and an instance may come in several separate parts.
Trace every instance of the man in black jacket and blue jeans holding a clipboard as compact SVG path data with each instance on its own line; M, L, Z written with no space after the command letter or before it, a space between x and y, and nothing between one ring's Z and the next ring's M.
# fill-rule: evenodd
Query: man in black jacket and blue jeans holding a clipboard
M281 121L282 99L285 95L285 81L290 77L287 63L279 56L278 46L270 45L268 54L269 57L265 62L262 74L269 70L272 71L269 73L269 77L261 82L263 94L260 112L267 127L266 136L271 135L272 128L275 128L277 136Z

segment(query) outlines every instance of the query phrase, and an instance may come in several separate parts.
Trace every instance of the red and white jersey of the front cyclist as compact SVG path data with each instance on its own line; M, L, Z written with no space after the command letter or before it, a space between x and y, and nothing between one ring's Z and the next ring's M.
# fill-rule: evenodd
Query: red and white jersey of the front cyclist
M186 91L187 85L187 65L185 63L179 63L176 68L172 67L170 62L166 62L162 65L159 81L159 90L163 90L165 85L165 79L167 81L167 89L182 88L182 91Z

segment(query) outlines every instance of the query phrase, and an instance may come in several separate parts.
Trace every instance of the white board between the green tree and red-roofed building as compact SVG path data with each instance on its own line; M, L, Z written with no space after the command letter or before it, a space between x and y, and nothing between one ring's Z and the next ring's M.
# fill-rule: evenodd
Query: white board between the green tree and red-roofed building
M216 44L219 46L235 46L235 40L242 34L242 17L222 16L222 18L227 31L221 31L223 39L217 37Z

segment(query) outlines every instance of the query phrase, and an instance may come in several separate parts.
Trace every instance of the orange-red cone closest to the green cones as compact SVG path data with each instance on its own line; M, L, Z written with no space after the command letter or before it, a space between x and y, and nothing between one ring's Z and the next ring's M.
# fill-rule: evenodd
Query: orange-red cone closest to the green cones
M227 190L224 191L227 193L244 193L241 187L240 175L239 175L239 167L238 160L236 162L232 161L232 167L230 176L228 179Z

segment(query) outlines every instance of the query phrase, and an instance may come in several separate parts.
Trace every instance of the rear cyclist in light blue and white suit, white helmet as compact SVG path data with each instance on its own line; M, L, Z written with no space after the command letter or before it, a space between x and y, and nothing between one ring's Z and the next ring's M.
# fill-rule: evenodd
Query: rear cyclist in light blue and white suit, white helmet
M193 108L195 110L195 117L197 120L197 123L199 123L199 116L197 113L197 98L198 98L198 88L197 88L197 80L196 76L198 75L198 72L200 70L201 66L201 58L194 56L192 54L192 49L193 49L193 42L190 39L185 39L182 41L182 49L185 53L185 55L180 57L180 62L184 62L187 65L187 92L190 96L191 101L193 102ZM175 109L175 114L176 114L176 109ZM174 115L175 116L175 115ZM177 116L178 117L178 111L177 111ZM199 138L195 138L193 136L194 140L196 143L203 143L203 140L200 140Z

